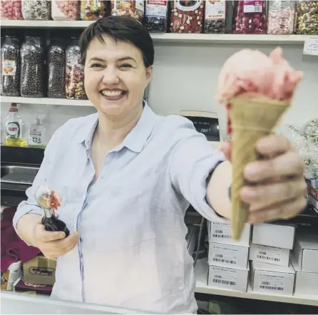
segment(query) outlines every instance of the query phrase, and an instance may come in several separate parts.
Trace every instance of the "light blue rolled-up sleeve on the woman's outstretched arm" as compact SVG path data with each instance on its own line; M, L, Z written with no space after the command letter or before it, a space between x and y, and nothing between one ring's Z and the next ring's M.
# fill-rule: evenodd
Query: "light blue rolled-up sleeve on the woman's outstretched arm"
M207 183L225 156L198 133L190 120L178 130L178 142L170 155L170 177L175 190L207 220L222 220L207 202Z

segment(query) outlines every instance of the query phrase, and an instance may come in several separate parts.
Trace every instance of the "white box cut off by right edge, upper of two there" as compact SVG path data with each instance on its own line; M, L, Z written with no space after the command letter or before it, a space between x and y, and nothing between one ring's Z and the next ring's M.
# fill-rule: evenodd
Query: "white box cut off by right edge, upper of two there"
M318 274L318 234L297 233L292 256L302 272Z

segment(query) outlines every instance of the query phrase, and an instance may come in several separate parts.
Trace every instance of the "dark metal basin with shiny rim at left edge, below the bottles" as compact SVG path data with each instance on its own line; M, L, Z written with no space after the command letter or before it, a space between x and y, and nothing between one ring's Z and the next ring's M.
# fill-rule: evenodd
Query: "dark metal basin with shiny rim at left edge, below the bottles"
M1 183L32 185L39 167L2 165Z

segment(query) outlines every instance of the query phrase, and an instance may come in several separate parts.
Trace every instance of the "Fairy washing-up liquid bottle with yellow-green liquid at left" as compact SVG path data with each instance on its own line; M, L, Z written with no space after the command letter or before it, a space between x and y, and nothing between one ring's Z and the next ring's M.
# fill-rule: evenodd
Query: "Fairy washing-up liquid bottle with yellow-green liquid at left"
M24 123L18 113L16 103L11 103L9 115L6 118L4 145L11 147L24 147L26 140L23 138Z

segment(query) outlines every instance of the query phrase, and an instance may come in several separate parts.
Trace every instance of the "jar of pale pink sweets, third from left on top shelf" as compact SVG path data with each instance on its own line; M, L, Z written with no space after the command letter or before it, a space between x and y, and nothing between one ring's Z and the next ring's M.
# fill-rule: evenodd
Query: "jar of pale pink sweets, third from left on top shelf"
M52 19L54 21L76 21L79 20L79 1L52 0Z

